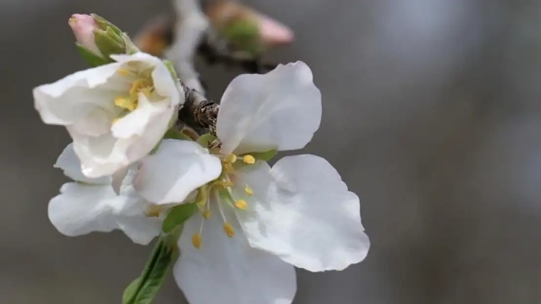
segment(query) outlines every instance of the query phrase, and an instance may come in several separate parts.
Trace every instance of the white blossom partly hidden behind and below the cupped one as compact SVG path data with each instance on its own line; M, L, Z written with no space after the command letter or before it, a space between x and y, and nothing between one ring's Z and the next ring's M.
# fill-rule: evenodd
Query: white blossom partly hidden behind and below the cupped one
M49 202L49 219L62 234L75 237L120 229L134 242L147 245L160 233L162 220L132 185L135 168L130 169L117 195L111 177L93 179L82 174L72 144L58 157L55 167L75 180L64 184Z

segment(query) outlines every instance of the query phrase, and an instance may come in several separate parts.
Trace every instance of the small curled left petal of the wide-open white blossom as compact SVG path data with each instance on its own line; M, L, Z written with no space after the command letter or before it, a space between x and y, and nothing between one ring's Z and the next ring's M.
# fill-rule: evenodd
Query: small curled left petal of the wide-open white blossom
M196 188L220 176L220 160L199 144L165 139L141 161L135 189L154 204L182 202Z

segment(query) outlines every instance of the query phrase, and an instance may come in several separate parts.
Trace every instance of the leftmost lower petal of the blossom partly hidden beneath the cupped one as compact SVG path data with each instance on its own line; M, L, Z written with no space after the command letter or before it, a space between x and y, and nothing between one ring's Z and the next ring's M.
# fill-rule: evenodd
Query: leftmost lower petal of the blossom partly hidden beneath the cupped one
M110 185L67 183L60 192L49 202L49 219L62 234L74 237L117 227L108 204L115 196Z

